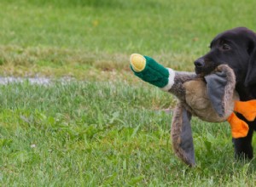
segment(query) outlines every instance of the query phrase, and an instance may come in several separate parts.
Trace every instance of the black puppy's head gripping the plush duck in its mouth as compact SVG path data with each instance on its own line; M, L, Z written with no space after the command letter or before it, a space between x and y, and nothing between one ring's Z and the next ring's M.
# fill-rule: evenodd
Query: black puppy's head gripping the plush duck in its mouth
M210 51L195 60L195 72L205 76L218 65L227 64L235 71L236 82L245 86L256 83L256 34L245 27L224 31L214 37Z

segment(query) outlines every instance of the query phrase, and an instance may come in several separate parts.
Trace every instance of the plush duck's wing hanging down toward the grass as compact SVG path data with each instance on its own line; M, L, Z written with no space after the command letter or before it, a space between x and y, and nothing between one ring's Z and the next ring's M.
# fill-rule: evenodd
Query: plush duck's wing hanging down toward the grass
M178 103L172 117L172 147L182 161L193 167L195 166L195 151L190 120L189 111Z

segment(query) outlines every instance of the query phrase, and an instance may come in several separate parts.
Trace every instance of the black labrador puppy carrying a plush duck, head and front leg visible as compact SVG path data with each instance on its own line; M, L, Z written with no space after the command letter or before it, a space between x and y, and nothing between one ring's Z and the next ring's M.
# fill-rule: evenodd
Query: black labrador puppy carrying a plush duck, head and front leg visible
M245 27L237 27L214 37L210 48L210 52L195 60L196 74L205 76L218 65L230 65L236 74L236 91L240 99L256 99L256 34ZM247 122L240 114L237 116ZM236 158L253 158L252 138L256 120L247 124L247 136L233 139Z

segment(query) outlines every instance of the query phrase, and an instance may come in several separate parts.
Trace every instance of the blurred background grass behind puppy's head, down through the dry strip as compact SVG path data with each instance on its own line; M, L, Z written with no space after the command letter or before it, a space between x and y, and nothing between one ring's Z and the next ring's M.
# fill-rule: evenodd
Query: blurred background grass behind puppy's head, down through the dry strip
M123 70L128 56L140 53L193 71L193 61L220 31L256 29L255 5L238 0L3 0L0 62L19 64L31 75L65 76L58 70L62 65ZM5 69L2 74L22 76L21 70ZM68 76L84 78L72 69L67 68Z

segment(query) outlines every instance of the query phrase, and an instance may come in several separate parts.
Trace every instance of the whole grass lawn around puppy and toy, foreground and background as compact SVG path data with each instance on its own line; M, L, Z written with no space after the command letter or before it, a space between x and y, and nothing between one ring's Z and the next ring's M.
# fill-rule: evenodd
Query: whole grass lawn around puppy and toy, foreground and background
M255 159L234 159L226 122L193 118L197 166L179 161L170 139L176 100L129 70L136 52L193 71L218 32L256 31L255 1L48 2L0 2L0 75L52 80L0 85L2 186L256 183Z

